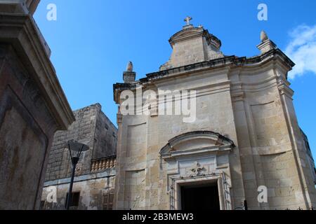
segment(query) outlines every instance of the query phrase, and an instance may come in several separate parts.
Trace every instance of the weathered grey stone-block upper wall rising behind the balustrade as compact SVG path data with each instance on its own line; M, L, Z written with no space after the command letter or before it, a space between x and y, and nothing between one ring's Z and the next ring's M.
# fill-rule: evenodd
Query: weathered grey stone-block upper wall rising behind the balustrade
M76 121L67 131L56 132L46 172L46 181L71 175L72 165L66 143L79 141L90 150L81 154L77 175L90 174L91 160L116 155L117 128L101 111L100 104L74 111Z

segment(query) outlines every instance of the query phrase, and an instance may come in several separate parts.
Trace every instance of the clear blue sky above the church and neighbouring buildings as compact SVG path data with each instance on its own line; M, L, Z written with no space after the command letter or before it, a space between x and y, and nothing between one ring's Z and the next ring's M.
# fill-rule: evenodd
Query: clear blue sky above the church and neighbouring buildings
M56 21L46 20L49 3L57 6ZM257 19L259 3L268 6L268 21ZM315 8L312 0L41 0L34 18L72 109L99 102L114 124L112 85L122 82L126 63L133 62L137 78L158 71L171 54L169 37L182 28L187 15L193 25L203 25L220 38L225 55L258 55L263 29L299 62L290 79L294 105L316 156Z

